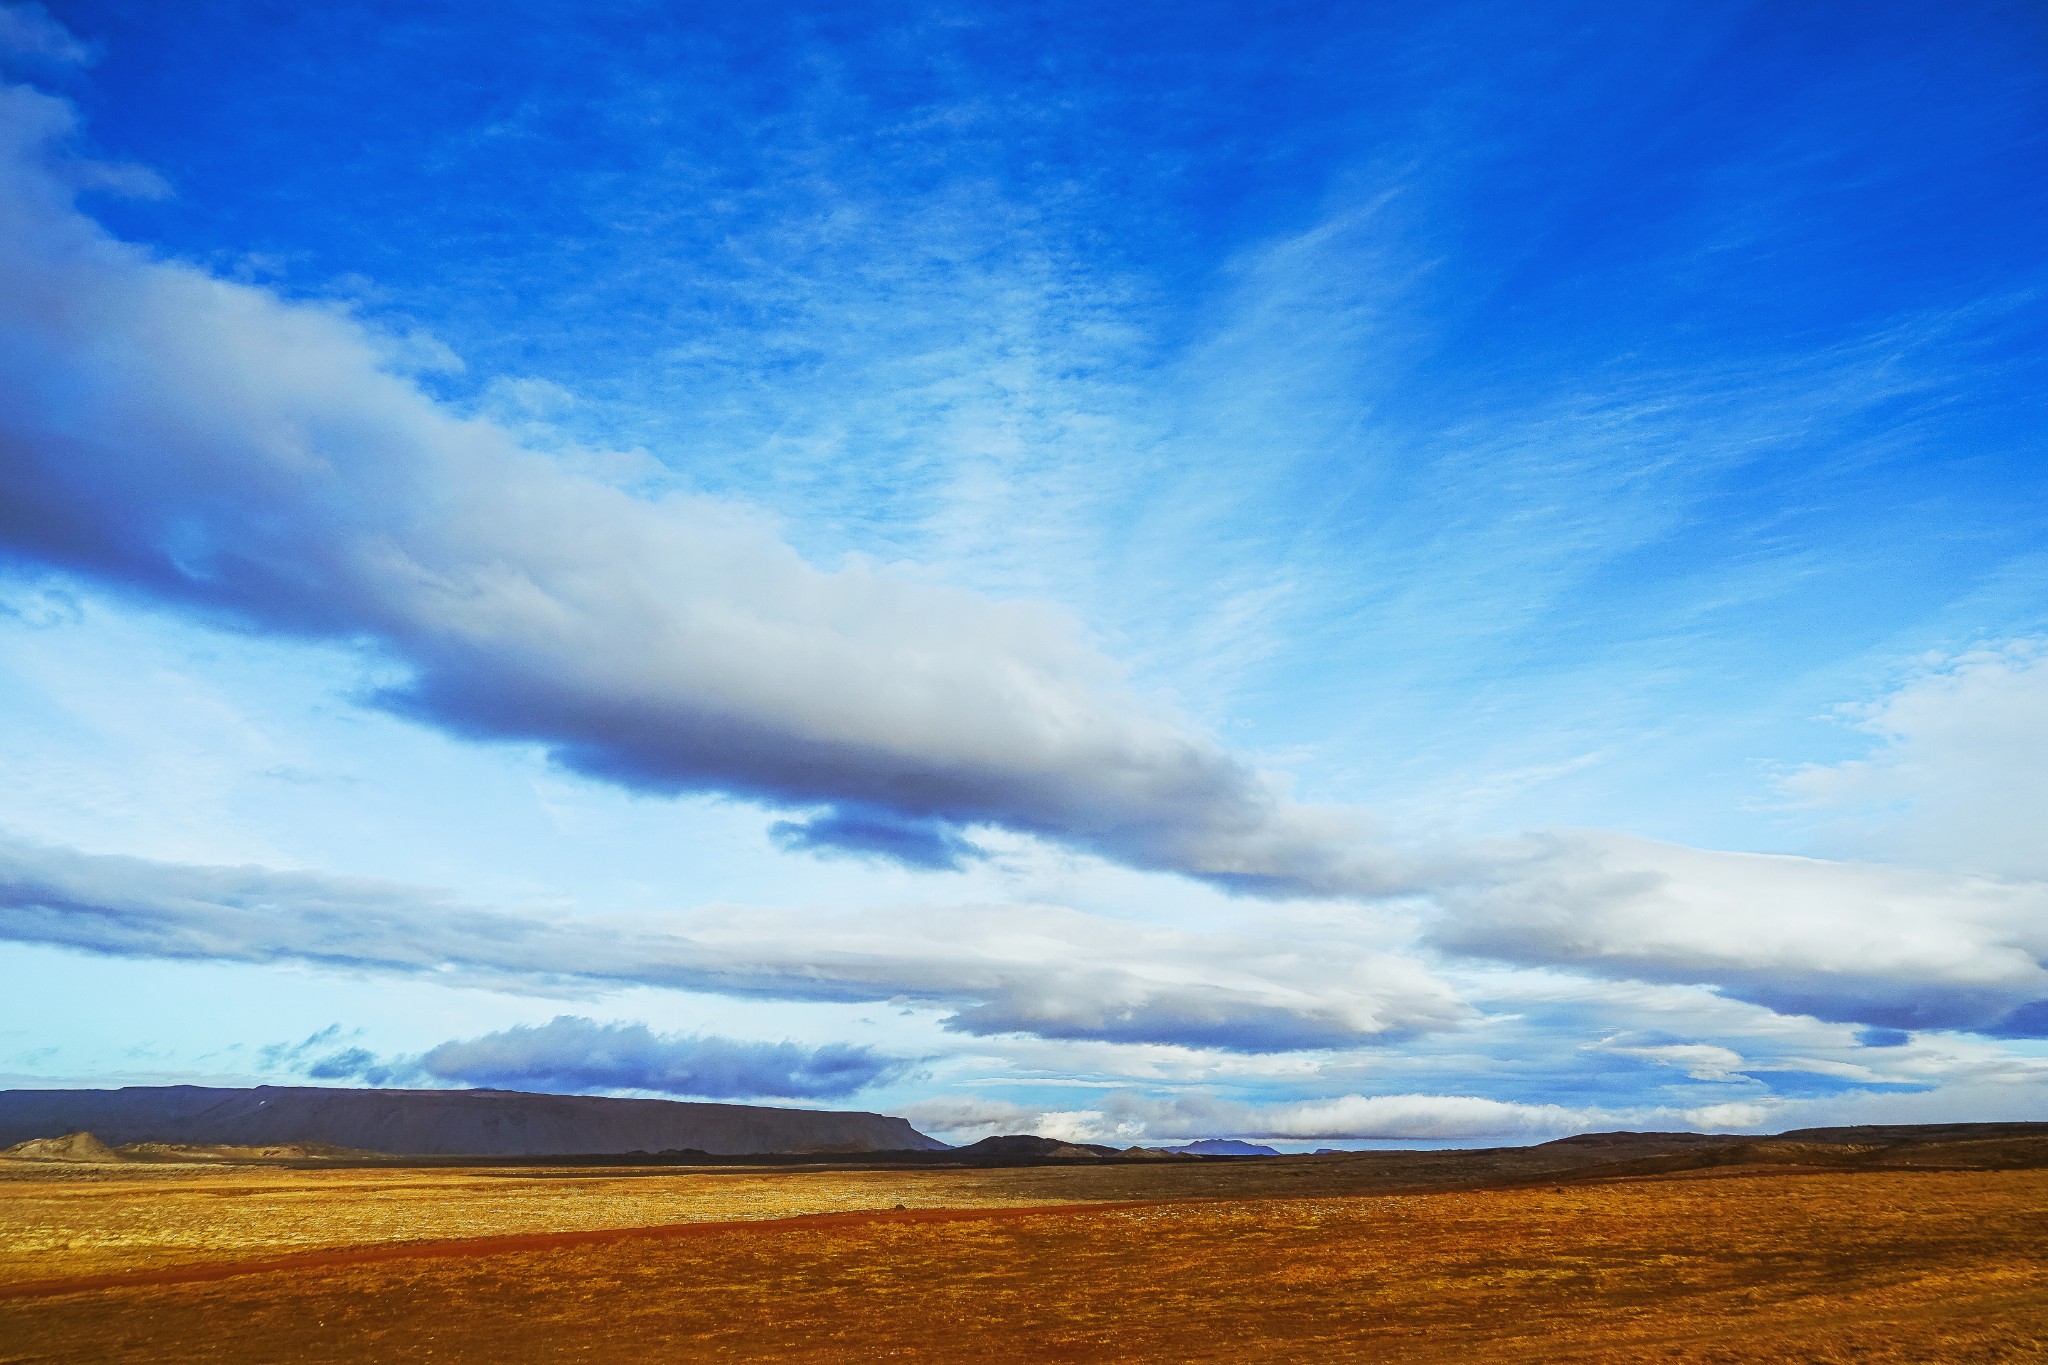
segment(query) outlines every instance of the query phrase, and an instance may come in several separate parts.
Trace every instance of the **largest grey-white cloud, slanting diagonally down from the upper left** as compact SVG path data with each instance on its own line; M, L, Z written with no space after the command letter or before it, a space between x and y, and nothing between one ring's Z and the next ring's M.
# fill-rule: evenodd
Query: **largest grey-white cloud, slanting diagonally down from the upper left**
M0 553L248 630L358 641L383 704L649 792L793 806L793 847L950 866L989 823L1245 890L1407 874L1348 810L1135 696L1075 622L637 497L391 372L348 317L74 205L70 108L0 88Z

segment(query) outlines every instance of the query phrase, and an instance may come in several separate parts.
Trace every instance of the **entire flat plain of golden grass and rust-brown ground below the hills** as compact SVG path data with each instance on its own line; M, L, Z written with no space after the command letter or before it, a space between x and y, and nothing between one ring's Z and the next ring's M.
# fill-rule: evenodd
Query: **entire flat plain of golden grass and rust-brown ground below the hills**
M2042 1169L1450 1169L14 1171L0 1361L2048 1359Z

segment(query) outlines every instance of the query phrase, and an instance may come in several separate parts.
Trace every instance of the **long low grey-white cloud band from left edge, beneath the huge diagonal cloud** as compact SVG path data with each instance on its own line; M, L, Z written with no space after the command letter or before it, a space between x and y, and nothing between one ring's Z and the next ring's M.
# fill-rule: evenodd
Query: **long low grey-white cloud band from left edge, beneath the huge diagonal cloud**
M0 939L434 974L524 993L639 984L901 999L950 1009L946 1027L963 1033L1241 1052L1358 1046L1473 1013L1413 958L1335 937L1188 933L1055 907L543 919L369 878L160 864L4 835Z

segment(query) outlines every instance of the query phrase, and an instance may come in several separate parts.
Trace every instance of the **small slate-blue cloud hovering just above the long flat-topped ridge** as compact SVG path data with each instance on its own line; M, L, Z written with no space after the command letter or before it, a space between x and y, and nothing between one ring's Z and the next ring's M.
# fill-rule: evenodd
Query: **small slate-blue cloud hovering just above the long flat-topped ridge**
M645 1023L555 1015L481 1038L451 1040L418 1058L383 1060L344 1048L303 1064L315 1081L401 1085L436 1081L502 1091L655 1091L696 1099L842 1099L909 1068L870 1048L741 1042L655 1033Z

